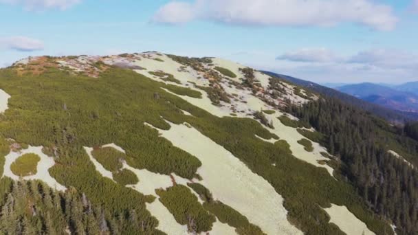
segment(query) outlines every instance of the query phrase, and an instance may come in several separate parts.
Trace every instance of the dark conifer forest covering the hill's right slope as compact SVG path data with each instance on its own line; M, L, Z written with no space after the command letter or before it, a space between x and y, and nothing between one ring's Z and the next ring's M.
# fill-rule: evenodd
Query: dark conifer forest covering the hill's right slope
M321 144L338 158L344 180L366 205L397 227L397 234L418 233L418 174L395 150L418 166L418 142L404 129L334 98L321 98L290 112L322 133Z

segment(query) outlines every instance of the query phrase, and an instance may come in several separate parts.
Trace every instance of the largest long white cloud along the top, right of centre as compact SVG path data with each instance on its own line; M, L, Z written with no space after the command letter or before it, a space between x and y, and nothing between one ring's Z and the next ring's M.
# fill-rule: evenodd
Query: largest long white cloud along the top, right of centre
M171 1L154 15L159 23L208 20L231 25L321 26L358 23L393 30L397 17L372 0L195 0Z

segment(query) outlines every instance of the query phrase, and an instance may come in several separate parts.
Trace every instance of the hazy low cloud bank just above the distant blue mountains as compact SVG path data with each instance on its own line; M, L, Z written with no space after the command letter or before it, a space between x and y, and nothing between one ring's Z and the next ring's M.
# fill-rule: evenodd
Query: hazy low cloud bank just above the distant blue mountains
M299 49L270 63L270 69L317 82L389 82L417 80L418 54L397 49L369 49L351 56L328 49Z

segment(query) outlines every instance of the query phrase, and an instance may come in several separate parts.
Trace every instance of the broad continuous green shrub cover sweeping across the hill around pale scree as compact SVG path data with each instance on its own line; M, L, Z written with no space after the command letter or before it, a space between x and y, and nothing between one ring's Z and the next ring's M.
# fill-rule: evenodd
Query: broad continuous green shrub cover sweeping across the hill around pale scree
M190 123L269 181L285 198L289 220L303 232L339 234L320 208L336 203L347 205L377 234L391 233L387 225L364 209L347 183L296 159L285 144L256 139L254 135L273 137L258 122L214 117L160 89L166 85L133 71L110 69L97 79L54 70L42 76L17 76L3 69L0 78L0 87L12 96L10 109L0 122L0 133L34 146L58 146L61 157L51 170L58 182L85 192L93 203L104 205L115 216L137 210L138 223L146 221L150 232L157 222L144 203L152 199L100 177L82 146L115 142L126 150L126 160L135 168L191 178L200 166L199 160L143 124L167 129L164 117L177 124ZM64 104L67 109L63 109ZM193 116L183 115L178 108Z

